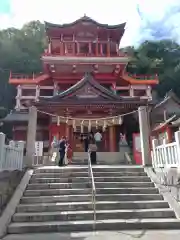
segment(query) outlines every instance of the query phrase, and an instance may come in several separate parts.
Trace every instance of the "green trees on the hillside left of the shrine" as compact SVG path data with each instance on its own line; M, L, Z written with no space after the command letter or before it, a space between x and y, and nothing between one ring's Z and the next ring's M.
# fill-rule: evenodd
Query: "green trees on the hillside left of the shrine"
M22 29L0 31L0 106L12 109L15 88L8 84L10 70L32 74L41 71L40 57L46 46L44 24L32 21Z

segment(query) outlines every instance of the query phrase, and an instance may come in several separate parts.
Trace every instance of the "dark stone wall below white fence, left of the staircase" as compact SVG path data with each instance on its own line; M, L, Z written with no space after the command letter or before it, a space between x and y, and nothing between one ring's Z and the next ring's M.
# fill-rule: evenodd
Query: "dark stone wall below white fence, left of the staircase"
M0 172L0 215L24 175L24 171Z

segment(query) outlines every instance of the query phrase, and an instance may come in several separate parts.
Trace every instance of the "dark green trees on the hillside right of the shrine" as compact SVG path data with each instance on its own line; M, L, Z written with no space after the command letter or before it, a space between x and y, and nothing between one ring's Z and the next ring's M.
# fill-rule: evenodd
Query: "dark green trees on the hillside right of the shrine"
M145 41L137 49L130 49L132 61L127 70L136 74L159 76L157 91L164 96L173 90L180 97L180 46L170 40Z

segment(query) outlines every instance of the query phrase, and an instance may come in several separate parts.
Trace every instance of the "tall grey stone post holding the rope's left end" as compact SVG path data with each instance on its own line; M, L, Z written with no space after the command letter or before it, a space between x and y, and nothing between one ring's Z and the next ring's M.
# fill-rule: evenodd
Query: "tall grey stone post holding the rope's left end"
M26 141L25 165L27 167L31 167L33 165L35 154L36 128L37 128L37 109L36 107L32 106L29 108L29 122Z

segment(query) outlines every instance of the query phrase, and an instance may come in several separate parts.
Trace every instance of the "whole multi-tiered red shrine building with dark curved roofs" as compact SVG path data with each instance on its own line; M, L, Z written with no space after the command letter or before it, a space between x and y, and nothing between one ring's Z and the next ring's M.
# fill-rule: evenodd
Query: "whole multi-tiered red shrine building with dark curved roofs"
M9 83L17 88L16 106L5 121L13 124L14 140L26 141L28 107L35 105L36 140L45 149L53 137L64 135L81 152L82 135L99 129L103 151L118 152L120 133L131 138L139 131L133 114L118 116L151 104L157 76L126 72L130 57L119 50L125 23L111 26L84 16L70 24L45 22L45 30L42 73L10 75Z

